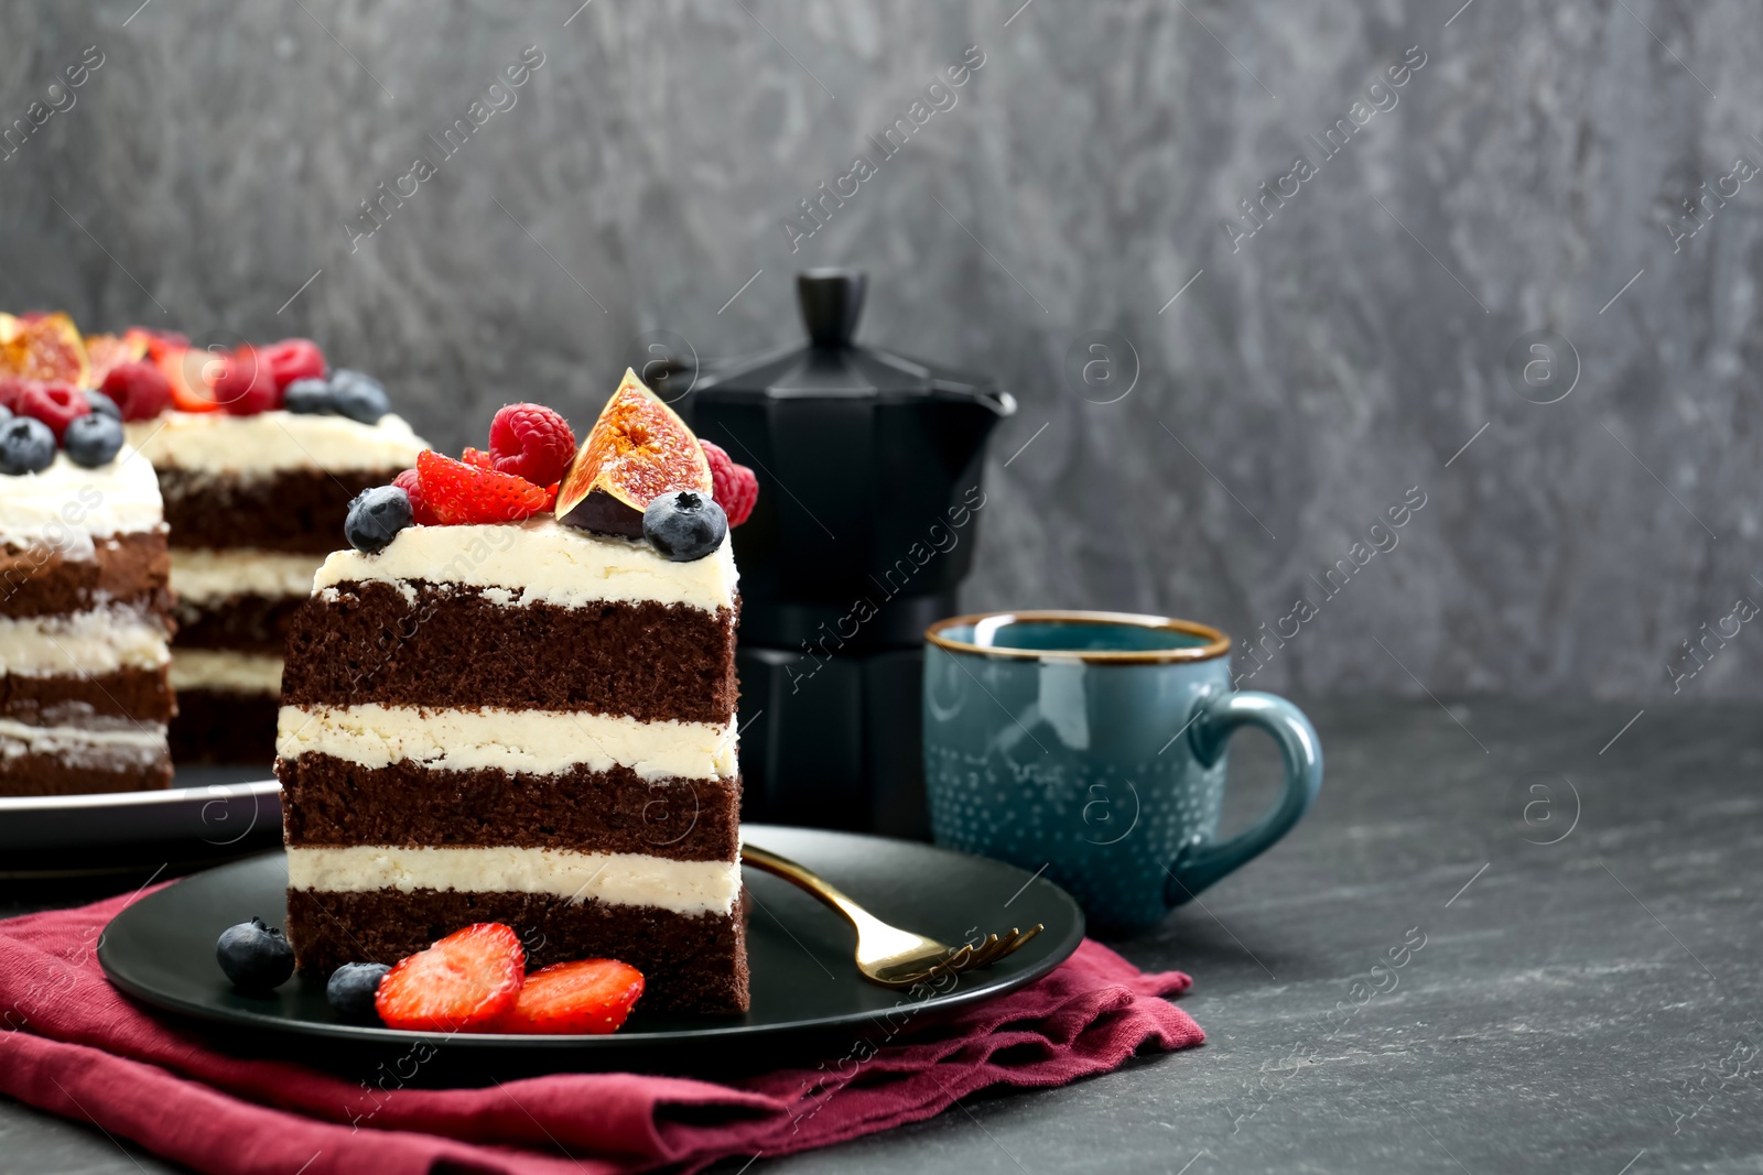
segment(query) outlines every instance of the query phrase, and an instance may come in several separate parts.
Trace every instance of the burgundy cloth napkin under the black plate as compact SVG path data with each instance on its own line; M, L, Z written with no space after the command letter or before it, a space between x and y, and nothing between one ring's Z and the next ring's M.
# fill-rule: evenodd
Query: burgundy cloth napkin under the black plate
M1086 939L1038 983L813 1069L728 1085L559 1073L485 1089L398 1087L390 1071L363 1082L217 1052L123 997L95 948L129 900L0 921L0 1092L197 1171L695 1171L917 1122L987 1085L1063 1085L1141 1050L1204 1039L1162 999L1186 990L1188 976L1144 974Z

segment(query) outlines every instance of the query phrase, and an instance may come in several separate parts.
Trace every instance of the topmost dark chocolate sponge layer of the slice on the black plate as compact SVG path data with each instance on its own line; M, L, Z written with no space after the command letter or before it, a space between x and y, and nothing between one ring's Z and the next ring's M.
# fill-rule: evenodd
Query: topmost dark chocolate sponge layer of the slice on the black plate
M510 606L465 585L344 583L294 617L286 705L587 710L730 722L735 615L684 604Z

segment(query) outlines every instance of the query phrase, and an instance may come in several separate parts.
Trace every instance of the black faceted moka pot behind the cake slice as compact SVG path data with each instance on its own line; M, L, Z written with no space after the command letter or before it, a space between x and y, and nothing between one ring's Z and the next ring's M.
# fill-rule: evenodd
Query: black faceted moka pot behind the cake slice
M957 611L1015 400L859 347L864 289L799 275L809 345L700 384L691 418L760 481L733 530L744 819L922 839L924 629Z

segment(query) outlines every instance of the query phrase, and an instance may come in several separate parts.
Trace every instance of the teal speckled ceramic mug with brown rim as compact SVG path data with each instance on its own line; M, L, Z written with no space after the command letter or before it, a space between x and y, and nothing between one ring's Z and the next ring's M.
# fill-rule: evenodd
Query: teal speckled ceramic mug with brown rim
M1264 853L1322 787L1283 698L1231 689L1231 639L1167 617L1017 611L926 631L924 780L938 844L1040 870L1090 920L1141 930ZM1218 839L1225 745L1273 736L1285 787Z

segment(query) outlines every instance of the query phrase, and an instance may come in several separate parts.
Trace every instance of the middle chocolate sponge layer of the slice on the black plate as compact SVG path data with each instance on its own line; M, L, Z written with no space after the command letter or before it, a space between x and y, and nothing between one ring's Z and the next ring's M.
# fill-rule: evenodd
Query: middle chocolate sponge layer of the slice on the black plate
M628 766L561 775L368 768L310 750L282 759L277 773L289 846L517 846L675 861L740 854L733 779L645 780Z

